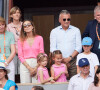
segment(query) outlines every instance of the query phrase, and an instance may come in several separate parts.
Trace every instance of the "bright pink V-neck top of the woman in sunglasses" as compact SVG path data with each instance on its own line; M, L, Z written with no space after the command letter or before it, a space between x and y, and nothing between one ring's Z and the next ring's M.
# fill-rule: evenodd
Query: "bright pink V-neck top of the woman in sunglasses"
M32 46L29 46L27 41L18 40L18 57L22 63L25 59L36 58L39 53L44 53L42 36L37 35Z

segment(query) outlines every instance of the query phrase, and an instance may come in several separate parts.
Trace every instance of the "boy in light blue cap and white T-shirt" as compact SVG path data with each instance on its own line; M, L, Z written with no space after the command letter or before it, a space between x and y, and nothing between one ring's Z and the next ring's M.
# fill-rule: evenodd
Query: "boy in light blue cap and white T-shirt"
M93 46L92 39L90 37L84 37L82 40L83 52L78 54L77 61L76 61L77 73L80 72L79 65L78 65L79 59L87 58L89 60L89 63L90 63L90 73L92 76L95 75L95 72L96 72L98 65L99 65L99 60L98 60L97 55L95 53L91 52L92 46Z

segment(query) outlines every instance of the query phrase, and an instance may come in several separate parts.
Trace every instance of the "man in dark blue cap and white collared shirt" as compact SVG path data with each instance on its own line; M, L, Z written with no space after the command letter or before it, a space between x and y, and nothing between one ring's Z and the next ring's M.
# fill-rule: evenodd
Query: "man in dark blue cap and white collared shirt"
M90 73L90 63L87 58L81 58L78 62L80 73L73 76L68 85L68 90L88 90L94 77Z

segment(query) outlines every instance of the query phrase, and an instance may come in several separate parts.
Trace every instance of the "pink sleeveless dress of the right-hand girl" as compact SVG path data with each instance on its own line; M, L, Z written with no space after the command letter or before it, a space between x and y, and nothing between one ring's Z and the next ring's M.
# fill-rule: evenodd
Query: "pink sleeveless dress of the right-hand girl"
M66 66L65 64L61 64L60 66L57 66L55 64L52 65L53 69L54 69L54 76L58 76L61 72L65 72L66 71ZM66 75L65 74L62 74L58 80L56 80L56 82L66 82L67 79L66 79Z

